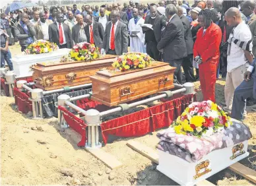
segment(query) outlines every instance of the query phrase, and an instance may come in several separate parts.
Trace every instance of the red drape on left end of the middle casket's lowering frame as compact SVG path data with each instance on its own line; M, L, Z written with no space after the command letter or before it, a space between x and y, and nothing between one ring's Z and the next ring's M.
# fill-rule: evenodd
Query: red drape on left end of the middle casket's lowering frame
M15 104L22 113L32 111L32 102L28 100L29 96L24 92L20 92L18 88L13 88L13 96L15 96Z

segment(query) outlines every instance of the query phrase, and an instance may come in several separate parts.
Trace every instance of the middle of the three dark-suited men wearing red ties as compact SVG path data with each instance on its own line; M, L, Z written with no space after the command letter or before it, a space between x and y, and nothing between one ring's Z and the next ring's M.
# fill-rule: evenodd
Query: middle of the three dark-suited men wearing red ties
M92 20L90 15L84 16L84 21L86 26L84 27L87 42L90 44L95 44L96 47L102 48L104 28L100 22Z

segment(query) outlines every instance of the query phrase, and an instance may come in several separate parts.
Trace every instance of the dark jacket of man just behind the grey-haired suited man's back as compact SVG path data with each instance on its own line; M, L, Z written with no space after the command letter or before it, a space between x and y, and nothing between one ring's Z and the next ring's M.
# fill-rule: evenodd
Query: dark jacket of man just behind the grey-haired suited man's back
M184 39L185 39L185 44L187 47L187 55L190 55L193 53L193 38L192 38L192 32L189 28L190 26L190 22L188 20L188 18L184 15L181 16L181 21L183 24L183 28L184 28Z

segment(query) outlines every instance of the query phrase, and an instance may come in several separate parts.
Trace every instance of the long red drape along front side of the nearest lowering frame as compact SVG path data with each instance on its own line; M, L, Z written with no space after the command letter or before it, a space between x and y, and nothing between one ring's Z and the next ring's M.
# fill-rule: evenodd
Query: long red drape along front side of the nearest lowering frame
M193 94L182 96L148 109L118 117L101 124L102 138L108 135L139 137L162 127L168 127L191 103Z

